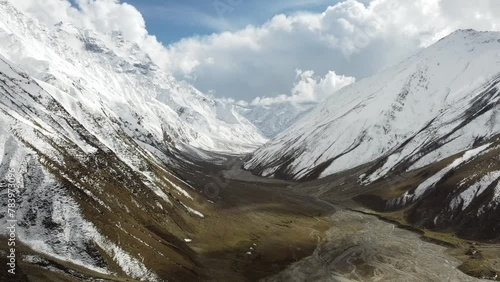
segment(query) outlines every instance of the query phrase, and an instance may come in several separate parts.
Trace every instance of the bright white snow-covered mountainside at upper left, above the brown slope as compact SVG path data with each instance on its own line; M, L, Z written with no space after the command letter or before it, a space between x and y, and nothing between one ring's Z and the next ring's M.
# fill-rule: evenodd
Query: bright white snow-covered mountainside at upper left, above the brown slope
M241 153L266 141L234 106L176 81L119 31L46 27L5 1L0 16L0 54L61 96L74 115L116 119L141 142L168 141L180 149Z

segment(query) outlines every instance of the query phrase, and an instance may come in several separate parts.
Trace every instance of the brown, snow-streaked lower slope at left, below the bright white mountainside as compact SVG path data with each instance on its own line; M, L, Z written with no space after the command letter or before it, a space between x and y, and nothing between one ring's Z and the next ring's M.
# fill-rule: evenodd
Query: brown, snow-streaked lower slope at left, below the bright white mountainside
M35 260L48 255L99 275L156 281L161 270L146 267L141 257L169 257L168 265L193 269L183 274L192 277L192 253L176 239L186 236L187 218L203 216L189 207L197 198L189 185L112 121L101 120L109 140L123 143L113 152L3 58L0 94L0 178L16 186L16 236L39 254ZM7 183L1 187L5 197ZM0 225L6 228L9 219L2 213Z

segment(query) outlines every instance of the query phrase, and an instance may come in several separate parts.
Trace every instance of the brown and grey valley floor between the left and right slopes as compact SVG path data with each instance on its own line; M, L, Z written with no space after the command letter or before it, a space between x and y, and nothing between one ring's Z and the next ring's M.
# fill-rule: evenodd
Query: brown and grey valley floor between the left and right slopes
M195 253L198 281L480 281L459 270L463 262L477 268L469 271L476 276L485 275L485 262L500 272L497 245L424 240L389 216L369 214L350 200L359 192L355 175L293 183L253 176L239 164L198 162L196 169L177 170L194 187L212 188L205 191L212 203L199 203L205 217L183 238ZM472 260L471 246L488 260ZM19 250L24 259L31 254ZM18 281L133 281L47 259L23 261ZM185 275L171 271L168 279L188 281Z

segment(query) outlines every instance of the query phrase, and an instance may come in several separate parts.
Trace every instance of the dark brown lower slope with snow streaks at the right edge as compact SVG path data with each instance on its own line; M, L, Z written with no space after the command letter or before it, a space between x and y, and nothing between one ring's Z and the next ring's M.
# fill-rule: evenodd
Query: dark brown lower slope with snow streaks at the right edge
M496 137L417 170L392 172L374 182L358 182L364 192L355 199L422 230L451 233L450 238L498 242L499 155L500 138Z

